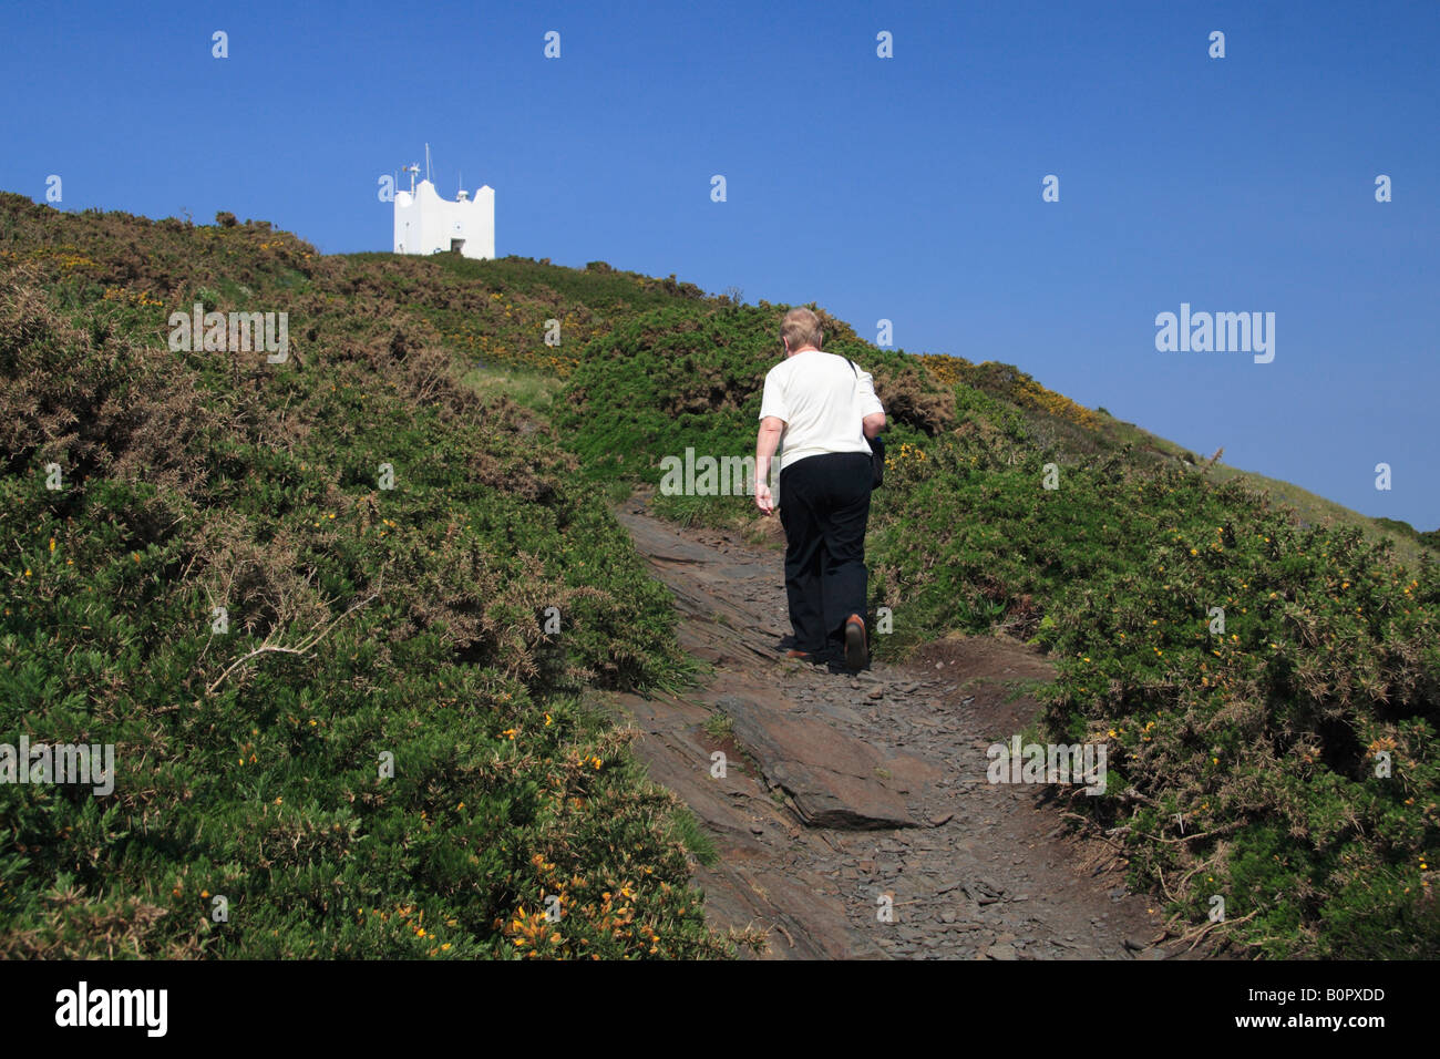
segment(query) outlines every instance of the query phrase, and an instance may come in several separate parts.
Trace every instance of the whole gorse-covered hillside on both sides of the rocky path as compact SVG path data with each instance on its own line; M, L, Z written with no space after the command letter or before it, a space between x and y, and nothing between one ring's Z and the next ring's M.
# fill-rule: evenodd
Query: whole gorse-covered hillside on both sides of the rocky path
M687 447L753 451L783 305L12 195L0 268L6 730L120 748L114 800L0 788L0 952L747 941L706 926L706 836L588 702L696 676L608 501ZM170 353L194 303L287 311L289 360ZM1433 955L1434 535L819 311L891 415L880 657L1048 651L1034 733L1112 746L1076 826L1178 919L1223 895L1259 952ZM753 526L744 497L654 510Z

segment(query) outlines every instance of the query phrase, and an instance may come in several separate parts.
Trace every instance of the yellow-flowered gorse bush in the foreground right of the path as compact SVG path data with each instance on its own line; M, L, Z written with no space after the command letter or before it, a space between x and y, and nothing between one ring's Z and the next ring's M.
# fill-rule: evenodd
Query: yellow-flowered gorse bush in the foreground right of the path
M1436 955L1434 563L1185 486L1136 486L1189 517L1043 631L1063 658L1053 726L1112 748L1119 790L1094 810L1142 877L1197 918L1221 896L1269 954ZM1182 493L1194 506L1171 507Z

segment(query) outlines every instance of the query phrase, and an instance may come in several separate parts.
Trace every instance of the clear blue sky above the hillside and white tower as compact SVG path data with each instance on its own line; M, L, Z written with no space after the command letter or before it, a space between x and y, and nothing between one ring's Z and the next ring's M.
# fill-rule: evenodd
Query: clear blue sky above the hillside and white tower
M0 49L0 187L59 174L60 209L389 249L376 180L429 141L444 195L495 189L501 255L884 317L1440 524L1436 0L10 3ZM1274 362L1156 352L1182 301L1274 313Z

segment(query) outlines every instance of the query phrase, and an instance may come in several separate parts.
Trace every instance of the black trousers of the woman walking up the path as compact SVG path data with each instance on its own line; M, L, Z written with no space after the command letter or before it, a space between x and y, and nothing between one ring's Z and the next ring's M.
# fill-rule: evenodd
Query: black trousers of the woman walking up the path
M865 618L870 474L868 452L824 452L780 471L785 594L796 650L840 650L845 618Z

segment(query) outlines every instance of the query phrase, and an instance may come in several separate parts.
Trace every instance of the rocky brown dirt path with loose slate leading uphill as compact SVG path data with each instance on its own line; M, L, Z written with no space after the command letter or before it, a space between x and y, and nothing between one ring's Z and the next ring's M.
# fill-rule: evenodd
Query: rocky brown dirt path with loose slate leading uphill
M652 778L714 837L720 859L696 876L713 924L769 931L765 958L1178 954L1155 944L1161 909L1126 892L1106 846L1064 836L1044 788L988 782L985 749L1051 677L1034 650L953 640L858 677L791 661L779 550L677 530L642 496L616 517L674 592L683 645L716 667L684 699L612 697Z

